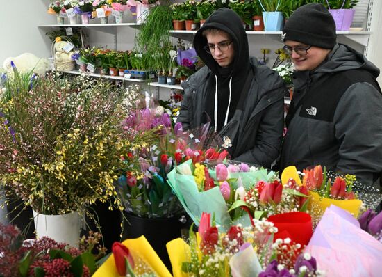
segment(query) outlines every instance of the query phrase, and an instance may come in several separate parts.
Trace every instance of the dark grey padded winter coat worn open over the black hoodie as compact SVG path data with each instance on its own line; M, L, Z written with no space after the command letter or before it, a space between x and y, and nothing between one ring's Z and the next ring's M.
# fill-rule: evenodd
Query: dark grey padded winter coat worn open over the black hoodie
M228 136L234 142L231 159L269 168L278 157L281 146L285 84L276 72L258 66L256 58L251 58L250 64L254 79L244 111L237 109L219 135ZM210 74L212 72L205 66L182 84L185 97L178 122L182 122L183 129L206 123L203 122L204 105L213 104L204 103Z

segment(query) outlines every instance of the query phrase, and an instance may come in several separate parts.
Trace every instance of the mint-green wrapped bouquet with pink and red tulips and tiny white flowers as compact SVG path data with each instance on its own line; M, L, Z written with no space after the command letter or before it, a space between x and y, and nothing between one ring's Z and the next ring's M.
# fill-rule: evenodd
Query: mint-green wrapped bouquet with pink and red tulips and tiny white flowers
M215 167L185 162L167 177L194 223L202 212L210 212L222 230L235 223L251 225L254 217L306 210L308 196L281 184L276 173L264 168L233 161Z

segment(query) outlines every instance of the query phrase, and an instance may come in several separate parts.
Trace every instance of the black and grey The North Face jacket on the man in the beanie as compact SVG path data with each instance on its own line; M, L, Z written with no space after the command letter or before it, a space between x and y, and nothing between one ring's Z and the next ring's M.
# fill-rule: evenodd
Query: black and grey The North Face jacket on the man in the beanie
M333 113L329 121L315 118L315 113L324 106L318 107L317 111L301 108L306 101L304 95L319 89L315 84L320 79L348 70L359 70L372 76L370 79L374 86L367 81L357 81L341 88L344 93L335 109L329 111ZM302 170L321 164L333 171L354 174L360 182L372 184L382 172L382 95L375 81L378 75L378 68L346 45L335 45L316 70L296 72L293 102L295 105L301 102L302 105L296 109L288 126L281 153L281 169L295 165ZM346 74L342 76L346 77ZM342 80L338 82L342 84ZM339 83L332 84L337 86ZM322 93L327 95L324 91ZM330 93L335 95L336 92ZM334 100L327 97L324 101L330 106Z

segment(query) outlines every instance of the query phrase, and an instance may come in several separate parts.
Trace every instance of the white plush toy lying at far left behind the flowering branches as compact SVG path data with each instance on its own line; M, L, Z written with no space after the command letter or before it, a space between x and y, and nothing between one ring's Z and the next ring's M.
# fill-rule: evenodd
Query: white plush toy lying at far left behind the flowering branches
M34 54L24 53L4 60L3 68L8 74L13 74L12 61L19 72L31 72L33 70L40 77L43 77L50 70L50 63L47 58L38 58Z

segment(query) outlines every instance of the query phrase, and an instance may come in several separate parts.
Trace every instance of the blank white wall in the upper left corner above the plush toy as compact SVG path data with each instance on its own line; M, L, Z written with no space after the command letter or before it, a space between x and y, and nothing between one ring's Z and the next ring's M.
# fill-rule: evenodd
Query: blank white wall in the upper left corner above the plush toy
M50 42L41 24L54 24L56 17L47 13L49 0L1 1L0 65L9 56L30 52L38 57L50 55Z

